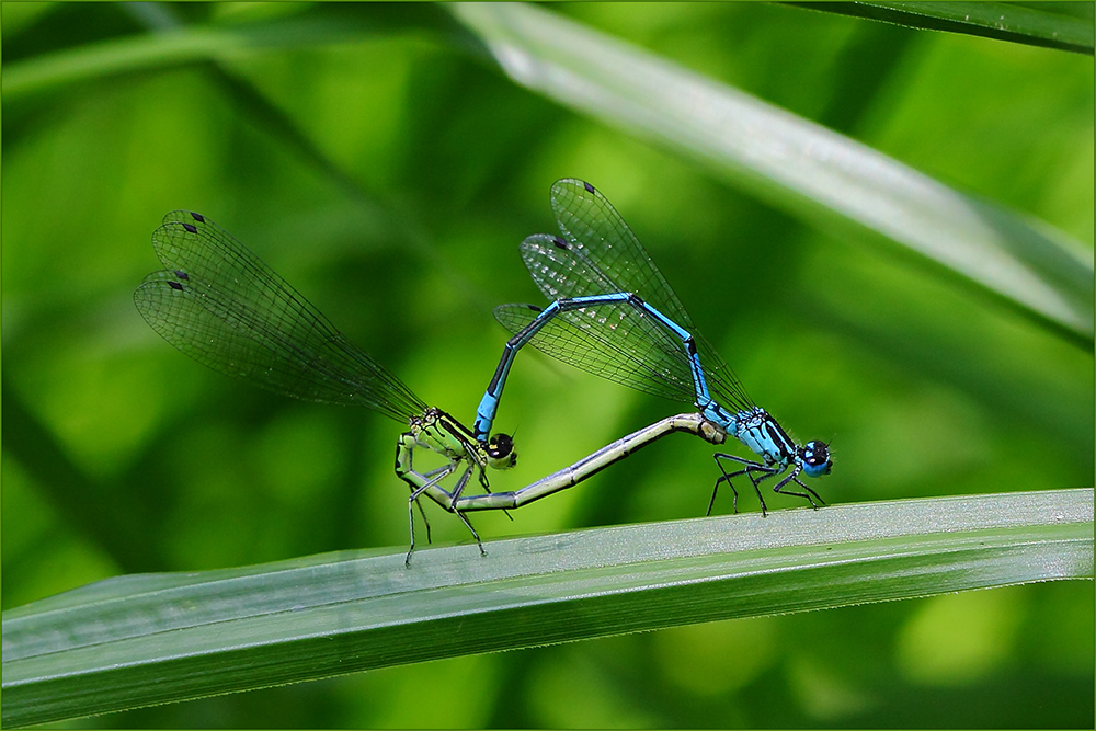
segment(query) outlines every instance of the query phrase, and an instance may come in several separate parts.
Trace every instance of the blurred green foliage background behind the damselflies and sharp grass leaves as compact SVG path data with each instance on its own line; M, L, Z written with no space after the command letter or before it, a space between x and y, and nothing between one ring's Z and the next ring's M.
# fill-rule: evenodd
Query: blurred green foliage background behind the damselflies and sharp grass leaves
M544 304L517 255L593 182L753 398L834 438L831 502L1093 484L1093 353L895 248L827 233L515 85L431 5L4 3L5 70L174 22L292 36L3 96L3 607L99 579L407 541L402 426L282 399L161 341L132 302L164 213L232 232L430 403L470 421ZM552 5L1082 242L1093 59L800 8ZM361 28L369 32L357 32ZM79 57L77 57L79 59ZM79 60L77 60L79 62ZM523 354L515 489L683 410ZM484 539L703 514L673 437ZM774 496L773 509L798 506ZM465 540L427 512L434 538ZM741 509L757 510L744 495ZM729 501L717 504L730 510ZM1088 582L689 626L87 719L98 727L1087 727ZM505 628L500 628L505 631Z

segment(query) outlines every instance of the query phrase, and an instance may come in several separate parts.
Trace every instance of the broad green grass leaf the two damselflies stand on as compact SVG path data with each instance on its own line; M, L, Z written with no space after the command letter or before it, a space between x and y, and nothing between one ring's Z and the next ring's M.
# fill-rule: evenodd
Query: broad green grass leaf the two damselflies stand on
M106 580L3 615L43 723L688 623L1093 576L1091 489L617 526Z

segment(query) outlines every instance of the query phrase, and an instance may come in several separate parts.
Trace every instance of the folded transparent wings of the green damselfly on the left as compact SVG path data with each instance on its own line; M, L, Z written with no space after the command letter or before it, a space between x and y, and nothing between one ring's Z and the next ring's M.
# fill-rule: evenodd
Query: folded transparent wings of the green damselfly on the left
M167 267L134 293L145 321L214 370L306 401L363 406L407 422L426 410L307 299L224 229L175 210L152 233Z

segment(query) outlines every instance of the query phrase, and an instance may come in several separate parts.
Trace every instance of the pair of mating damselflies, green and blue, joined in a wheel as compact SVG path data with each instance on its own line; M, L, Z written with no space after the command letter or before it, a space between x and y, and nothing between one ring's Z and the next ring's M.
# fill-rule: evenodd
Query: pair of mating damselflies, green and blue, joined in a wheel
M538 233L521 244L522 259L550 304L495 308L495 318L515 334L503 347L470 429L429 407L285 279L199 214L175 210L164 216L152 247L167 269L148 275L134 301L164 340L215 370L306 401L363 406L407 424L409 430L397 442L396 473L411 490L408 562L415 546L415 506L430 538L423 496L455 513L483 552L465 513L518 507L573 487L674 432L717 445L730 435L761 458L715 454L720 475L709 514L724 483L738 510L732 480L741 476L753 484L763 513L761 484L777 477L775 492L818 507L822 499L799 478L830 472L829 445L817 439L797 444L753 402L695 331L665 277L597 190L579 180L560 180L552 185L551 205L561 236ZM491 492L488 469L510 469L517 461L513 438L491 431L514 358L527 344L609 380L692 403L696 411L667 416L520 490ZM416 449L439 455L442 466L416 469ZM728 464L733 469L728 470ZM452 487L446 487L450 478ZM466 493L473 478L482 492Z

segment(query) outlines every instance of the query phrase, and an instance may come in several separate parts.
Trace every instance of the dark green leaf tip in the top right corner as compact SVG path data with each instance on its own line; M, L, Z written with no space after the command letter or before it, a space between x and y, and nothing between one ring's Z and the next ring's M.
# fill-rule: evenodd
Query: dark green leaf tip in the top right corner
M1093 55L1093 3L792 2L808 10Z

